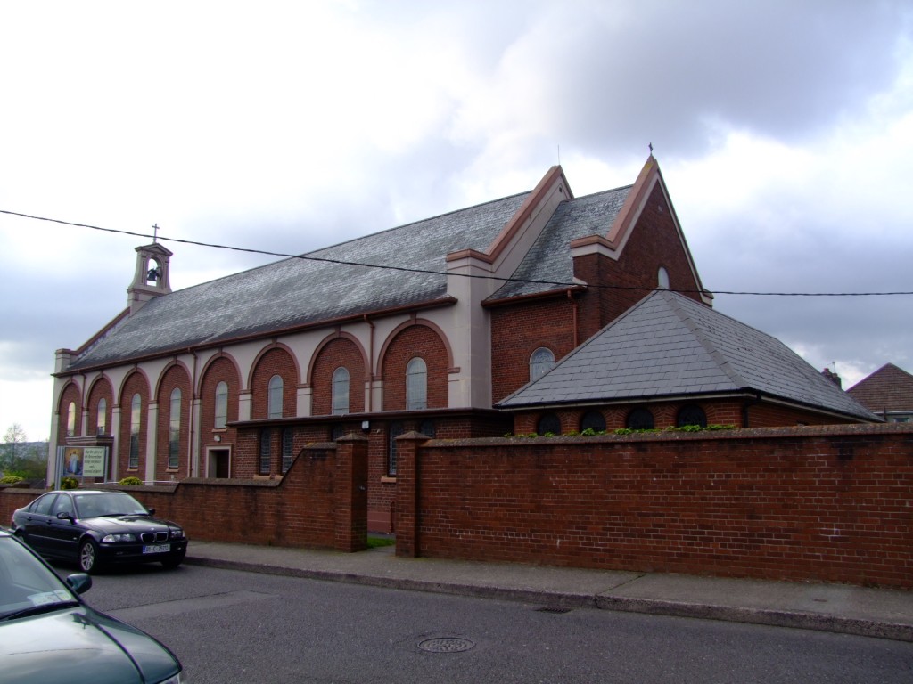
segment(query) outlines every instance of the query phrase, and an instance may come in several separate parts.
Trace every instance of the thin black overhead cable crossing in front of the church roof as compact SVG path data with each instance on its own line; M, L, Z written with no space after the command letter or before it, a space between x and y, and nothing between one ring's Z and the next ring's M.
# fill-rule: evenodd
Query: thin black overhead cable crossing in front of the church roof
M72 221L62 221L60 219L51 219L46 216L33 216L28 213L20 212L9 212L3 209L0 209L0 213L5 213L10 216L19 216L25 219L32 219L34 221L46 221L48 223L60 223L61 225L71 225L77 228L89 228L93 231L101 231L104 233L119 233L121 235L131 235L133 237L142 237L142 238L151 238L155 241L163 241L170 243L178 244L192 244L197 247L212 247L214 249L227 249L234 252L247 252L248 254L263 254L265 256L277 256L286 259L302 259L304 261L315 261L315 262L324 262L327 264L341 264L347 266L362 266L364 268L377 268L390 271L404 271L408 273L423 273L430 275L460 275L467 278L482 278L486 280L497 280L504 283L528 283L532 285L556 285L560 287L575 287L579 286L577 283L565 283L561 281L553 280L528 280L524 278L513 278L513 277L503 277L499 275L476 275L476 274L448 274L444 271L435 271L433 269L425 268L410 268L406 266L395 266L390 264L363 264L360 262L345 261L342 259L329 259L322 256L314 256L312 254L284 254L281 252L270 252L268 250L254 249L252 247L236 247L230 244L215 244L215 243L203 243L195 240L184 240L177 237L164 237L163 235L158 234L158 228L156 226L156 232L154 234L149 233L134 233L132 231L124 231L117 228L103 228L98 225L91 225L89 223L74 223ZM613 290L650 290L653 288L649 287L638 287L633 285L587 285L588 287L594 288L605 288ZM676 292L683 294L700 294L701 292L713 293L715 295L754 295L754 296L782 296L782 297L868 297L868 296L897 296L897 295L913 295L913 291L910 292L740 292L735 290L675 290Z

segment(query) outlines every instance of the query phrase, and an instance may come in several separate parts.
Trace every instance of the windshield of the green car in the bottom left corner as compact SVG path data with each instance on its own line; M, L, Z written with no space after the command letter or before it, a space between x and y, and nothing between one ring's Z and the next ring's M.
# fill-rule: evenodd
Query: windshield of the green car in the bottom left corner
M60 578L13 537L0 536L0 620L78 603Z

